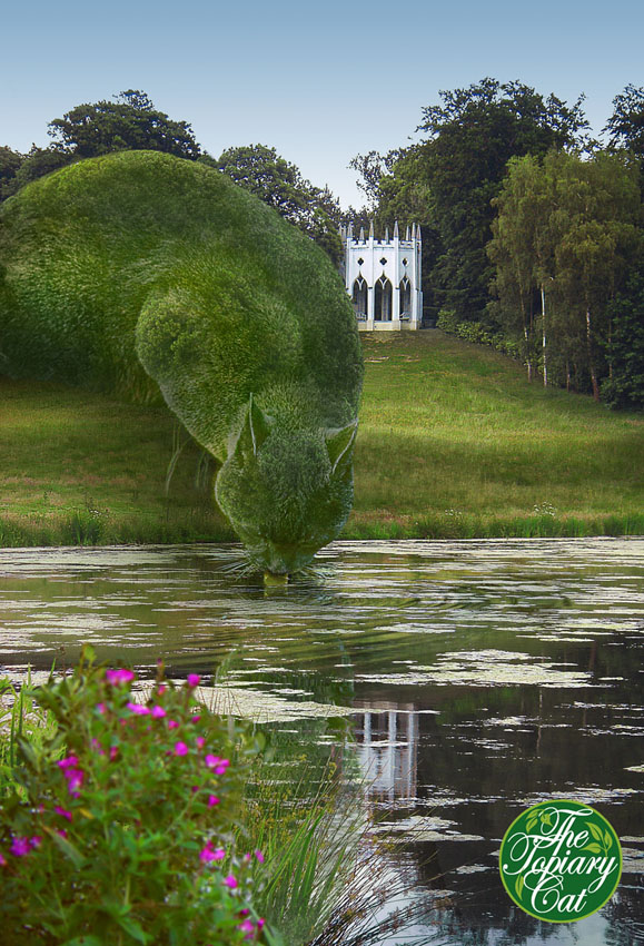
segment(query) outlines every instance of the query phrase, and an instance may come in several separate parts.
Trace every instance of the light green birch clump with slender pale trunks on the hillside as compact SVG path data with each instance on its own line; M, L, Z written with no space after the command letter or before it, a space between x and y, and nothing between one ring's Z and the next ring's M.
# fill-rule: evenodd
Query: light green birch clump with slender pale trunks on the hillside
M509 162L494 206L488 254L502 311L513 324L514 309L514 325L525 332L524 300L538 292L544 384L554 353L565 363L566 383L571 361L585 366L598 400L607 306L638 245L635 165L604 152L589 160L555 150L543 161L525 156Z

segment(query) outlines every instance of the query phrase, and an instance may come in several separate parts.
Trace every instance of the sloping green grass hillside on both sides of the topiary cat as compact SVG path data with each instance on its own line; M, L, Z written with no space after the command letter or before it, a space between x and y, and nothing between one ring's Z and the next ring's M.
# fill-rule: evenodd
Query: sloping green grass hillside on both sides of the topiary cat
M346 538L644 533L644 416L528 385L438 331L364 336ZM169 412L0 378L0 544L221 541Z

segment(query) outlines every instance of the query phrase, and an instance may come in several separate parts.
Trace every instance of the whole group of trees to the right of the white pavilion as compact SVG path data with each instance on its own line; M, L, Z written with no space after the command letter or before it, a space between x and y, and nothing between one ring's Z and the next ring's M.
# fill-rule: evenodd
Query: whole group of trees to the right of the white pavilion
M423 109L417 144L354 158L380 223L420 223L426 316L528 378L644 408L644 88L602 146L572 106L483 79Z

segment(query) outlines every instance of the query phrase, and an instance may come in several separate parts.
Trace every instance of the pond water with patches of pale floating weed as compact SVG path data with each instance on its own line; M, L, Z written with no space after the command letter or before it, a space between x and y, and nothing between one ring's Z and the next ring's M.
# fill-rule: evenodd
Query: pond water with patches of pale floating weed
M231 577L236 556L0 552L1 672L46 676L86 641L142 676L159 657L177 677L225 669L247 706L270 698L294 758L357 755L385 827L413 838L387 869L425 891L435 942L638 942L642 540L336 543L324 580L270 597ZM355 710L351 752L329 704ZM602 913L559 927L515 911L496 850L523 807L562 795L596 805L631 854Z

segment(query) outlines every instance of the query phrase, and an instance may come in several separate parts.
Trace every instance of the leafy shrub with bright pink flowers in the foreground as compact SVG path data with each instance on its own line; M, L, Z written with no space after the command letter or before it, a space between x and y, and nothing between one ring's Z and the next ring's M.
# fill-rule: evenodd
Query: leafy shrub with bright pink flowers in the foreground
M267 943L251 905L260 851L232 845L258 750L195 699L199 678L132 698L133 673L83 654L38 693L57 733L20 743L22 791L0 805L2 942ZM254 869L255 868L255 869Z

